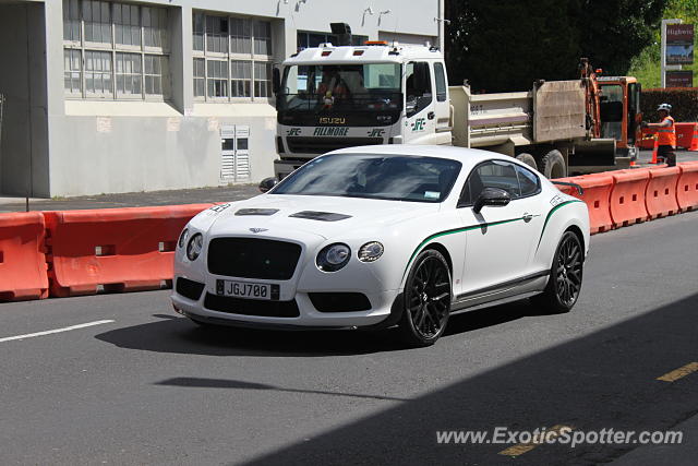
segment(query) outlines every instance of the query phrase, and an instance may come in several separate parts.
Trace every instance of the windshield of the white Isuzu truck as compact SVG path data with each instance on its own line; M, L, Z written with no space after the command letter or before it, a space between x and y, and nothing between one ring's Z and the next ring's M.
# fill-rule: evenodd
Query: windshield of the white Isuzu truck
M399 63L300 64L284 72L279 110L401 110Z

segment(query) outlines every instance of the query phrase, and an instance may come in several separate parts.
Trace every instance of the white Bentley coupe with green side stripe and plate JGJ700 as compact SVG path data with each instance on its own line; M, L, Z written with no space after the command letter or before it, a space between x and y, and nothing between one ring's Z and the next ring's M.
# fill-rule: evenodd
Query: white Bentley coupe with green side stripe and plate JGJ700
M452 314L531 298L569 311L587 206L514 158L446 146L351 147L189 222L174 309L202 325L399 326L433 344Z

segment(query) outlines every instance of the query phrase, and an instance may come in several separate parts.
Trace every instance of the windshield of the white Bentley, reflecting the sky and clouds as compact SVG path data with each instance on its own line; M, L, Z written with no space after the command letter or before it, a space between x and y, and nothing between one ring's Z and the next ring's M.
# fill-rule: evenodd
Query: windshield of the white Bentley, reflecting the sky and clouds
M442 202L460 167L436 157L330 154L303 165L269 193Z

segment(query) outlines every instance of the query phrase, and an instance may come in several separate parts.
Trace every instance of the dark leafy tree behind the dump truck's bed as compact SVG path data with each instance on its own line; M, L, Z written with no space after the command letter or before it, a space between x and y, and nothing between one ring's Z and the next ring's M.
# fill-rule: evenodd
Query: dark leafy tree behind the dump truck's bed
M569 80L579 58L623 74L652 40L666 0L446 0L452 83L478 92L524 91Z

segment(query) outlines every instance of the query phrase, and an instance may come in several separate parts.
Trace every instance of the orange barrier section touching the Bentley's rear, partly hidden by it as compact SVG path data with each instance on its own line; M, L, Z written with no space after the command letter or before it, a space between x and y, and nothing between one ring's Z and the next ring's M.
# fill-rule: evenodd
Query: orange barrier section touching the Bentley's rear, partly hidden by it
M589 208L589 229L591 235L609 231L613 229L611 208L609 200L613 189L613 177L607 174L593 174L581 177L562 178L555 181L577 183L583 189L579 194L576 188L557 186L557 188L569 195L582 200Z

